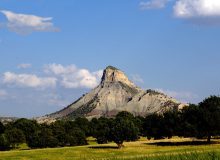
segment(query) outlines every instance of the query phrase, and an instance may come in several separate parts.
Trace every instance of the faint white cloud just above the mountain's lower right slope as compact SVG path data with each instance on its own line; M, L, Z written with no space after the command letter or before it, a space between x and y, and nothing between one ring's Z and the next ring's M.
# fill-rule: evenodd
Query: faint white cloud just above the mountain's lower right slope
M183 103L192 103L199 97L197 94L189 91L171 91L164 89L156 89L156 90L165 93L168 96L173 97Z

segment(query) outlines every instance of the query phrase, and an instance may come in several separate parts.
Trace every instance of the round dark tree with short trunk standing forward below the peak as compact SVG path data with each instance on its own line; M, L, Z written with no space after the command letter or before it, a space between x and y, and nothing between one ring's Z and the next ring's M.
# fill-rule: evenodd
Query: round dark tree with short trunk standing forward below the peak
M109 141L115 142L119 149L123 147L124 141L136 141L139 138L139 130L132 117L128 112L121 112L110 124Z

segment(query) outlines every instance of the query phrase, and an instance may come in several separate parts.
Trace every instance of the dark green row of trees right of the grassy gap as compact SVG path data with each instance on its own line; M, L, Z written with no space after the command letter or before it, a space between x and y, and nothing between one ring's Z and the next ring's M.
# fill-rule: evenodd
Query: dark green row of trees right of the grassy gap
M134 117L127 112L119 113L115 120L100 118L91 121L95 127L93 137L98 143L114 141L119 146L123 141L136 140L140 136L148 139L195 137L207 139L220 136L220 97L211 96L198 105L190 104L180 111Z

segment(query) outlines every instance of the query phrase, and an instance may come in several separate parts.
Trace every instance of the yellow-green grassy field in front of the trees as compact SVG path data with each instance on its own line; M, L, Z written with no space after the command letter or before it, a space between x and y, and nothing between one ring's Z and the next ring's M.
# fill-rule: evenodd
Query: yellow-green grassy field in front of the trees
M148 141L141 139L137 142L126 142L124 143L125 147L119 150L114 143L98 145L90 140L90 145L82 147L0 152L0 160L220 159L220 144L189 145L187 143L189 141L192 141L192 139L176 138L162 141Z

